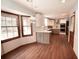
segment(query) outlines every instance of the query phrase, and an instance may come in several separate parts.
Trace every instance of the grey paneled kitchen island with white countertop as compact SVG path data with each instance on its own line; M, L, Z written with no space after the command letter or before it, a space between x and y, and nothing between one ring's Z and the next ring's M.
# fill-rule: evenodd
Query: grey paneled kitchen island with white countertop
M36 31L36 39L38 43L49 44L51 31Z

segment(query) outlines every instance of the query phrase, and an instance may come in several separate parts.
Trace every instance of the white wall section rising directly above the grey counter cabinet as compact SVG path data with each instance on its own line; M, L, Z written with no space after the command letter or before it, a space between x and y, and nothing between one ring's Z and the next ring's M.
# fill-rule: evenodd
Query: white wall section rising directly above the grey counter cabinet
M37 13L35 15L35 18L36 18L36 31L44 30L44 27L45 27L44 15Z

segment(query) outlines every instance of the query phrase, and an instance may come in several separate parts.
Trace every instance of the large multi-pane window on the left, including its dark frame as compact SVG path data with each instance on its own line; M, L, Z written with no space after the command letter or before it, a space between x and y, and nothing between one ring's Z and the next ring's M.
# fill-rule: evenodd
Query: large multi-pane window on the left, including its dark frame
M18 15L1 12L1 40L3 42L20 37L18 22Z

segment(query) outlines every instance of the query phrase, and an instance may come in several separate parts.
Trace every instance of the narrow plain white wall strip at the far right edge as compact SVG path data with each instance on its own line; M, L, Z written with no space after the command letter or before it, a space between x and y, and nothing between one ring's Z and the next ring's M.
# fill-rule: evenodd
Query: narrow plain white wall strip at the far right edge
M76 10L75 16L74 51L78 57L78 10Z

